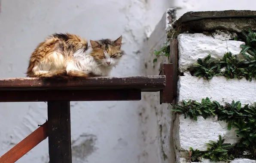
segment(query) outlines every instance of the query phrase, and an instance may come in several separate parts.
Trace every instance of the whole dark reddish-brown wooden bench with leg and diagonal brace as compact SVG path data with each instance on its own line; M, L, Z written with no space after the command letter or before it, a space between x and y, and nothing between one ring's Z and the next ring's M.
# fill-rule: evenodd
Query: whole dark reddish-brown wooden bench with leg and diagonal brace
M141 92L160 91L160 103L172 103L173 64L161 65L160 75L91 77L88 79L0 78L0 102L47 101L48 120L0 157L14 163L49 139L49 163L71 163L70 101L141 100Z

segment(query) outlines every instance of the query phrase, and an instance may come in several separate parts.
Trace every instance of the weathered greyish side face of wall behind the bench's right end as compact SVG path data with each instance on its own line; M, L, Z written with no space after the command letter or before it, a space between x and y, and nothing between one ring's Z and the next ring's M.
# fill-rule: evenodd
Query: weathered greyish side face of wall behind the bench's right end
M153 63L155 54L154 50L160 50L167 39L166 13L163 14L161 20L155 27L150 37L143 45L145 51L143 66L146 75L159 74L160 63L168 63L167 57L159 57L158 61ZM173 157L173 151L170 148L171 136L171 112L168 110L168 104L159 104L159 93L143 93L142 99L146 102L141 106L141 119L145 128L143 129L143 142L148 145L150 153L148 153L155 163L170 163ZM146 136L149 135L149 136ZM157 148L155 148L157 147ZM153 153L159 153L159 157L155 158Z

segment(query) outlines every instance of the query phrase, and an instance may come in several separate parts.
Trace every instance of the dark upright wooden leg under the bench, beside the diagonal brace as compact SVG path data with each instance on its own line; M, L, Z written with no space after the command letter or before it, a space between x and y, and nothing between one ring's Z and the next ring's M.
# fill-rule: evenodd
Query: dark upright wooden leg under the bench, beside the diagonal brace
M72 163L70 101L48 101L49 163Z

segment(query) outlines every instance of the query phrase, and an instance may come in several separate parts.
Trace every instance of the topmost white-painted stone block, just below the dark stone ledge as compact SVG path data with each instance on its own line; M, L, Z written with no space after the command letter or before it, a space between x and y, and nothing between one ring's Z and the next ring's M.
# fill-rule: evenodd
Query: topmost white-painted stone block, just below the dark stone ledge
M243 58L240 53L241 41L214 39L213 36L206 36L203 33L183 33L178 37L179 70L186 71L197 63L198 58L205 58L208 54L214 59L222 59L223 55L230 51L238 58Z

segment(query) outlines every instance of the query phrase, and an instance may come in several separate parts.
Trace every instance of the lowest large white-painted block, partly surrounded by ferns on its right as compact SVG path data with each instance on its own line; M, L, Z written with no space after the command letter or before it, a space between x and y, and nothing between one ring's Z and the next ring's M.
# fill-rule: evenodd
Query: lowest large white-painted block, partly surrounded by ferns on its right
M225 139L225 143L235 144L238 142L235 129L227 130L227 123L225 121L218 121L217 117L210 117L204 119L199 116L198 121L190 118L184 118L180 115L180 148L189 150L189 147L206 151L209 146L209 140L217 141L219 135Z

